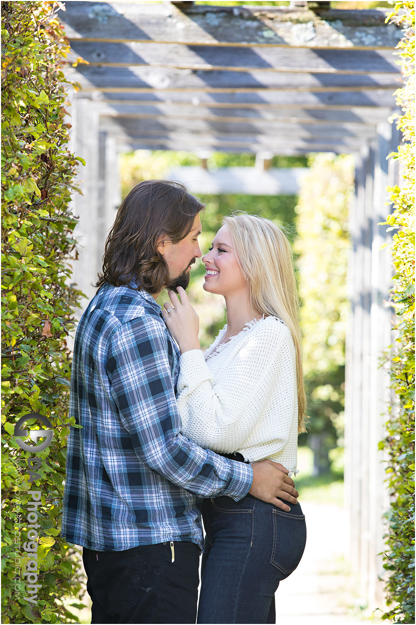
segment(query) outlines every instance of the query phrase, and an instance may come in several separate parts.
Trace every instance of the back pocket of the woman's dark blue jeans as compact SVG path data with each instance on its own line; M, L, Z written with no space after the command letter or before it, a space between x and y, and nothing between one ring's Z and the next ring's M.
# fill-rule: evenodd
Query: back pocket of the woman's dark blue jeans
M282 574L280 579L285 579L295 570L305 550L305 515L298 506L292 507L290 512L280 508L272 510L273 549L270 564L279 569Z

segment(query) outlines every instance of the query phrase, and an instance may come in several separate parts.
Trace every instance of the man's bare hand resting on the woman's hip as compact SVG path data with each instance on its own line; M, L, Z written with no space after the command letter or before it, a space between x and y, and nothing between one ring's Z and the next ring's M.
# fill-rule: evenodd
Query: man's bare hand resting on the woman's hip
M254 462L252 468L253 482L249 490L250 495L287 512L290 507L277 497L282 497L290 504L297 504L299 492L295 489L295 482L288 475L289 471L282 464L271 460L262 460L261 462Z

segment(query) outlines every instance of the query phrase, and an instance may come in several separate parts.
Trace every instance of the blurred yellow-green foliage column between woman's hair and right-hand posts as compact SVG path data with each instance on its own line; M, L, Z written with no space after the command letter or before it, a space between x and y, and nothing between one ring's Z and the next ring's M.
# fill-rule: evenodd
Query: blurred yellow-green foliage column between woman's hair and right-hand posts
M354 158L317 154L310 158L309 167L295 209L298 237L294 249L299 254L309 397L307 440L319 474L329 469L330 449L344 446L345 328L350 307L348 213L354 191Z

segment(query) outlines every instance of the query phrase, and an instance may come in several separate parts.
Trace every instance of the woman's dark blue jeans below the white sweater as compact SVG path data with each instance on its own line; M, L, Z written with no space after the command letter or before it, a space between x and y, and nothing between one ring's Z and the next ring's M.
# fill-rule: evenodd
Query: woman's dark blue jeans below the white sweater
M274 593L300 562L305 516L251 495L204 500L198 623L274 623Z

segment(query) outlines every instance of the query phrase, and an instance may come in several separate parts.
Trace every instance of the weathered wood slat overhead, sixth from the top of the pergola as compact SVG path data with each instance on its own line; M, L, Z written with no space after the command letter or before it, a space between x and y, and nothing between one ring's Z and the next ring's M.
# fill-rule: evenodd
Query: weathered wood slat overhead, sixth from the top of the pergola
M187 132L190 134L209 134L215 136L226 134L250 136L264 134L266 137L287 138L299 136L304 138L342 138L342 137L359 137L362 139L374 137L374 126L367 124L299 124L299 123L281 123L275 121L265 121L264 119L252 119L249 123L245 122L222 122L222 121L206 121L204 119L183 119L172 117L155 118L123 118L123 117L105 117L101 118L101 128L121 128L124 132L131 136L141 136L154 132Z

